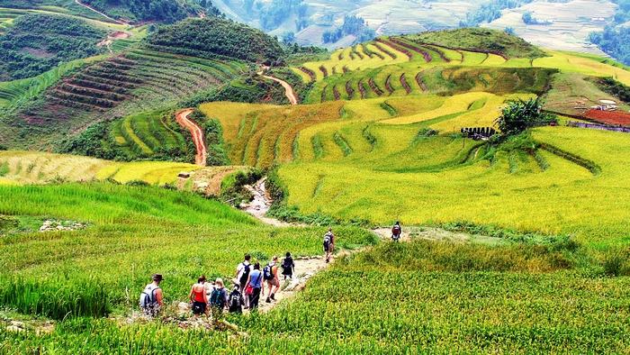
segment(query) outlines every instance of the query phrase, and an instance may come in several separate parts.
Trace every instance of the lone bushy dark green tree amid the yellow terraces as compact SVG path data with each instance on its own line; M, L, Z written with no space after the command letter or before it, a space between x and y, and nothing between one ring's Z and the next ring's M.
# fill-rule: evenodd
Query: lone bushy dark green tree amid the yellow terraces
M554 114L543 112L543 103L540 98L510 102L503 108L497 120L503 136L516 135L529 128L557 122L558 119Z

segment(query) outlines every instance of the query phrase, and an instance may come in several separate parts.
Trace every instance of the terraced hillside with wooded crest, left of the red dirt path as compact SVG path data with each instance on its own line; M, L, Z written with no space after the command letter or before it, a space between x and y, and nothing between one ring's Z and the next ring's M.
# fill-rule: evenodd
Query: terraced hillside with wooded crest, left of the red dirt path
M117 43L112 41L112 47ZM175 106L197 96L274 99L280 89L251 75L257 62L282 55L277 41L265 33L220 18L160 27L146 41L126 42L107 58L84 59L71 69L45 74L46 86L37 84L44 77L6 83L2 97L11 114L4 115L10 127L5 132L17 134L7 134L4 144L79 151L67 150L65 141L106 120L112 123L98 128L104 144L99 158L186 159L190 150L182 138L186 133L178 132L172 119ZM29 88L33 84L35 93ZM146 123L137 125L137 115L156 120L150 132ZM160 147L162 143L170 145Z

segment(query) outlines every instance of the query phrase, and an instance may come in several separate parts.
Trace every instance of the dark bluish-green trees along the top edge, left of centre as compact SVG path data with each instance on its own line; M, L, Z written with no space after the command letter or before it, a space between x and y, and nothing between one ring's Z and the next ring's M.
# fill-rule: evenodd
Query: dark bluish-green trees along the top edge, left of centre
M175 23L196 14L197 5L181 0L83 0L83 3L114 18L132 21Z

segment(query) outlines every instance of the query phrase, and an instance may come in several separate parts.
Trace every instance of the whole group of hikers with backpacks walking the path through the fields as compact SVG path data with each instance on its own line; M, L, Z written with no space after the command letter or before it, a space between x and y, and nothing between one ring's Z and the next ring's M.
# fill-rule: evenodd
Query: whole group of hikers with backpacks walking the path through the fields
M399 241L401 234L401 223L396 222L392 227L392 240ZM332 232L332 228L329 228L329 231L324 234L323 247L326 253L326 262L329 263L335 251L335 234ZM293 279L295 263L290 252L286 252L280 267L283 269L284 280ZM153 275L152 282L140 294L140 308L148 316L159 314L162 305L164 305L162 289L159 287L163 280L162 275ZM222 278L209 282L202 275L197 278L197 283L191 287L188 298L195 316L212 314L216 318L225 309L229 313L241 314L243 309L257 310L260 298L265 296L265 285L268 290L265 302L275 302L275 294L280 290L278 257L274 256L261 269L260 263L252 264L251 256L246 254L236 268L231 292L226 289Z

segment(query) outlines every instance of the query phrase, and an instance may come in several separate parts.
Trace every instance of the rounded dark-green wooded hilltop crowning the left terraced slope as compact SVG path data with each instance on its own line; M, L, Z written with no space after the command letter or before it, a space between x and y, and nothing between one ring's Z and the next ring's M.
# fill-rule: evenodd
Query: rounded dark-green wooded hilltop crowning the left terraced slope
M216 16L160 27L147 41L157 50L208 59L273 63L283 55L278 41L265 32Z

